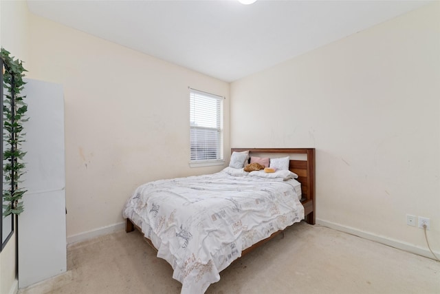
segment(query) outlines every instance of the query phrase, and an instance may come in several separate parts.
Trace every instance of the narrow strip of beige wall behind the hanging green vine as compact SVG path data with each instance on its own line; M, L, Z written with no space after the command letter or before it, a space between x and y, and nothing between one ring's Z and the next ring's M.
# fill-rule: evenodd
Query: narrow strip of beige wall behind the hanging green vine
M0 45L21 61L29 60L28 6L25 1L0 1ZM27 70L27 63L23 65ZM0 293L17 290L16 235L0 253Z

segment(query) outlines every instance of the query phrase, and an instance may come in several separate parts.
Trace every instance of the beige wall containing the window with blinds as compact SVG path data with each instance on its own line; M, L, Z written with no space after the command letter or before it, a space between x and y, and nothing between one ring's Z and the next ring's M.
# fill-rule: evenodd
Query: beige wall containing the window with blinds
M229 84L32 15L30 76L65 93L67 236L123 221L137 185L219 171L190 168L188 86L225 96Z

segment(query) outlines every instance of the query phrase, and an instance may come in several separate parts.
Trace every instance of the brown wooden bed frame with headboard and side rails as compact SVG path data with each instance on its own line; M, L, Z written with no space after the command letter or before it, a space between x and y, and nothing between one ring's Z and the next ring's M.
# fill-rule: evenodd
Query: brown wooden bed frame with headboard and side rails
M305 220L309 224L315 224L315 148L232 148L231 154L234 151L240 152L247 150L249 150L250 156L258 156L259 154L270 156L275 156L276 154L278 157L285 156L287 154L303 154L307 156L305 160L291 159L289 170L298 175L296 180L301 183L302 198L300 201L304 207ZM134 229L137 229L142 233L140 227L137 227L129 218L127 218L125 231L129 233L134 231ZM249 253L256 247L261 246L282 232L283 231L276 231L275 233L272 233L270 237L257 242L248 249L243 250L241 256ZM148 244L150 244L151 247L153 247L153 249L157 251L151 240L148 238L145 238L145 240Z

